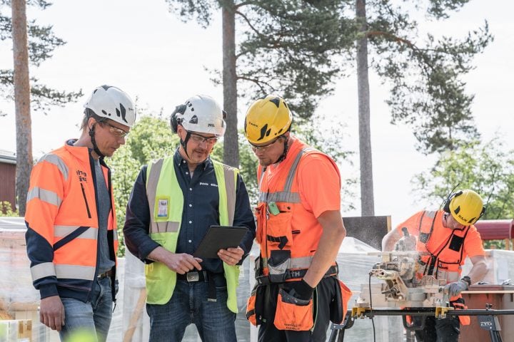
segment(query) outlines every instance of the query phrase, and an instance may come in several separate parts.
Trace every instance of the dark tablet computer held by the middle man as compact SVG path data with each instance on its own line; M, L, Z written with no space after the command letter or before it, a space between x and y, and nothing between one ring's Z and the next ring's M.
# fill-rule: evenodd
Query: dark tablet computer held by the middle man
M246 227L211 226L203 237L193 256L201 259L218 258L220 249L238 247L248 232Z

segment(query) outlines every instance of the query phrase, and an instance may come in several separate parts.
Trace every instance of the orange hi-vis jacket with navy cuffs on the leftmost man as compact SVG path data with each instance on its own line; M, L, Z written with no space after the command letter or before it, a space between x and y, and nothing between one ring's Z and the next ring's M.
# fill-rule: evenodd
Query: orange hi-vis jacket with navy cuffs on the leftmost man
M87 147L74 140L41 157L31 173L25 222L34 287L41 299L59 295L88 301L96 278L99 218L94 164ZM107 224L109 254L116 262L118 234L111 172L100 161L111 195ZM111 277L116 294L116 267Z

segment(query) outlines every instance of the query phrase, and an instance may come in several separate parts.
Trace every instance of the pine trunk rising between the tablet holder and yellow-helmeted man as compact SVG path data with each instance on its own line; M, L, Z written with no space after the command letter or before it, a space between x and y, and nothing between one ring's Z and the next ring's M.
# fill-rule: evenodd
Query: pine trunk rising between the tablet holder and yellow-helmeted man
M237 131L236 14L233 1L223 1L223 108L227 129L223 139L223 162L239 167Z

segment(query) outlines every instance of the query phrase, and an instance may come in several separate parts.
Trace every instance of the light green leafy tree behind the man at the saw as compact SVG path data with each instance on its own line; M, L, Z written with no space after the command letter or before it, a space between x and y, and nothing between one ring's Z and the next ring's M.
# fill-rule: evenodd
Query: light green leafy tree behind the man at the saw
M514 151L504 152L503 142L470 142L440 155L432 170L415 177L422 198L442 203L453 187L472 189L484 199L484 219L514 217Z

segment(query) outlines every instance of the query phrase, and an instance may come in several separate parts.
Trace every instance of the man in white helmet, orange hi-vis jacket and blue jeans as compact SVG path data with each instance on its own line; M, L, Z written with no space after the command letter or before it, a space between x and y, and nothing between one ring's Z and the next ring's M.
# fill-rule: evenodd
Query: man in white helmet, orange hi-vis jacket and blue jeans
M61 340L106 341L116 299L116 214L104 157L136 120L124 91L100 86L84 105L79 139L41 157L31 174L25 221L41 323ZM96 337L96 338L95 338Z

